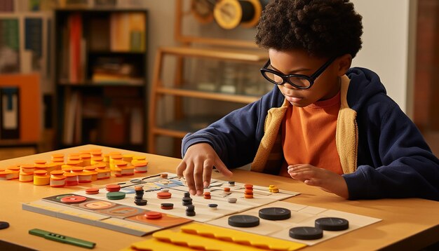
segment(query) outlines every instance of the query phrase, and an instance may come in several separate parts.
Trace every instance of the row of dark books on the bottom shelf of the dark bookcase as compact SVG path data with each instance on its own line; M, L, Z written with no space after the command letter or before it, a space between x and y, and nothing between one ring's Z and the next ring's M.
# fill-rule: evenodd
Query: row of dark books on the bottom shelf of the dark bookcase
M73 90L66 95L62 142L81 144L143 144L142 102L131 97L85 95ZM107 104L107 102L111 104Z

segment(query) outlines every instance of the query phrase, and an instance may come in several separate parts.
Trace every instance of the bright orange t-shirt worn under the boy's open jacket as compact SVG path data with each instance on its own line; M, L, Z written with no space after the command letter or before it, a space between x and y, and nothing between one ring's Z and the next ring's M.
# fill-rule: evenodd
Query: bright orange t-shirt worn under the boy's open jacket
M340 93L307 107L290 105L282 121L284 161L279 175L290 177L288 165L310 164L343 174L335 145Z

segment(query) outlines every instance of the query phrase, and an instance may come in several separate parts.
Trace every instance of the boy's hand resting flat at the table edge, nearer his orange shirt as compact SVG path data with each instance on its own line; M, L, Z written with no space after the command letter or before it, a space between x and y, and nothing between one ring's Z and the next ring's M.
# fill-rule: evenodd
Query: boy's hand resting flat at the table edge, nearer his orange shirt
M289 165L288 173L293 179L297 179L310 186L320 186L321 189L343 198L349 198L349 191L344 177L335 172L313 165L298 164Z

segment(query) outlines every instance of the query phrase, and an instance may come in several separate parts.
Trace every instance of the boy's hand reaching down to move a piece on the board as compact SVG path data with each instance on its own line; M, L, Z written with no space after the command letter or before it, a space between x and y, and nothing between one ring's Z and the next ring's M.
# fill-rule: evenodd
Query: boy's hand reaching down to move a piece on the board
M214 166L222 175L227 177L233 175L210 144L193 144L187 149L182 162L177 166L177 176L186 179L191 195L201 195L204 187L210 184Z

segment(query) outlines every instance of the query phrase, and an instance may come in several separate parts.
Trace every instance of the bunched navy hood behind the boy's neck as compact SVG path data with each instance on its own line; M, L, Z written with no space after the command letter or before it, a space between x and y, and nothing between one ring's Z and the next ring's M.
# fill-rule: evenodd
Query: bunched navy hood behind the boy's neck
M379 93L386 95L386 88L379 76L370 69L353 67L346 72L346 76L351 79L347 95L351 109L358 111L371 97Z

